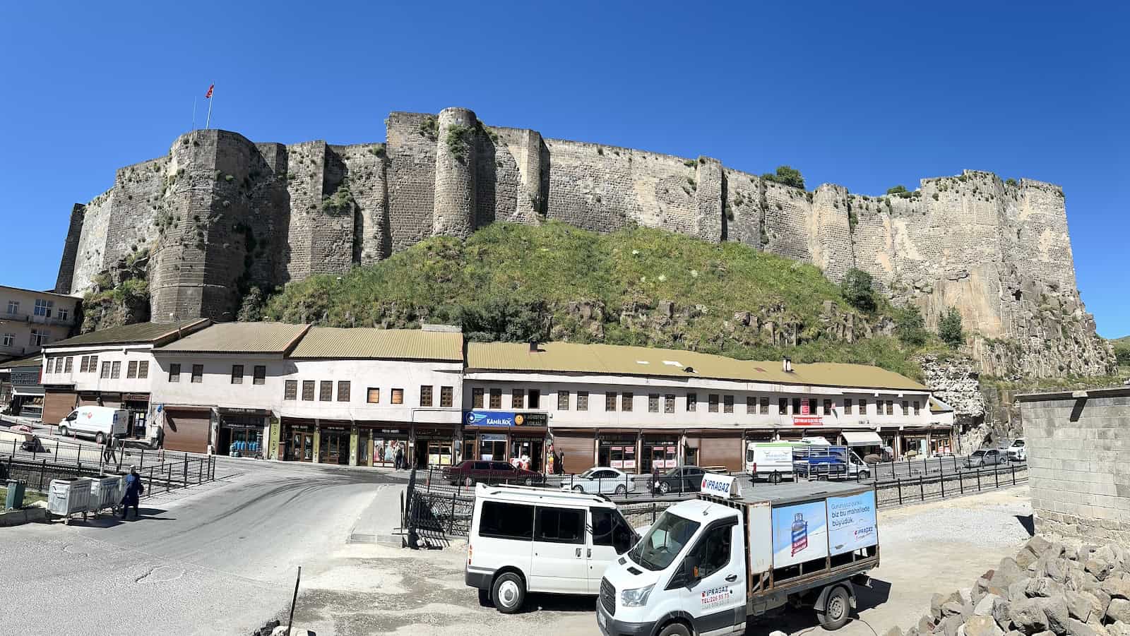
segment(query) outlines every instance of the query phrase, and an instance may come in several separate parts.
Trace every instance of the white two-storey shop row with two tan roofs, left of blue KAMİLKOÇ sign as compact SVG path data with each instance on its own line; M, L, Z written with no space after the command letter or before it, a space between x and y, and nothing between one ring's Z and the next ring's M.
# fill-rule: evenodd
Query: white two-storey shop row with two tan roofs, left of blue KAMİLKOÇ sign
M458 453L458 330L224 323L156 356L166 447L376 467Z

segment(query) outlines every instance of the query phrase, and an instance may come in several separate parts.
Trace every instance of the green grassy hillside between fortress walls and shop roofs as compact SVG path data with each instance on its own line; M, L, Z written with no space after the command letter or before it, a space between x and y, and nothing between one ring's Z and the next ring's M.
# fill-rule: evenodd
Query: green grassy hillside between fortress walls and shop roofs
M741 244L646 228L597 234L559 223L492 224L466 242L429 238L340 280L289 284L263 310L264 319L285 322L443 322L461 324L473 340L603 341L747 359L791 355L918 376L910 361L915 351L897 339L849 343L842 329L837 334L829 326L849 320L889 325L892 314L883 302L862 314L817 268Z

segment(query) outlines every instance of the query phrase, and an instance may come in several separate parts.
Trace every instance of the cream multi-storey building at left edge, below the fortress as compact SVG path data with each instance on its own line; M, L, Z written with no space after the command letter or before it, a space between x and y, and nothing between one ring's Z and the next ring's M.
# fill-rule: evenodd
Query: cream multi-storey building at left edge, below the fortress
M73 296L0 286L0 360L28 357L70 336L78 302Z

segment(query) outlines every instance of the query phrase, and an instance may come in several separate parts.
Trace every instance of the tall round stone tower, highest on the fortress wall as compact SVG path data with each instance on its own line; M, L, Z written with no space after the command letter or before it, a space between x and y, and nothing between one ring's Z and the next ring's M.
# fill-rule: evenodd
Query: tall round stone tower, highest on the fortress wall
M467 238L475 230L477 123L475 113L468 108L444 108L440 112L433 235Z

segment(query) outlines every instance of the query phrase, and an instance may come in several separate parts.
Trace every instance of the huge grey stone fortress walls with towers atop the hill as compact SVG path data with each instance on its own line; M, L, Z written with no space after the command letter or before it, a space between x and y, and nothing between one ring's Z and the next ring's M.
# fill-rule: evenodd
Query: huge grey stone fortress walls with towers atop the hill
M467 108L392 113L386 143L253 142L195 130L120 168L71 212L56 291L148 258L155 321L232 320L242 294L340 273L496 220L629 224L737 241L838 281L869 272L935 326L957 306L991 375L1105 374L1113 355L1076 288L1063 192L991 173L902 195L807 192L722 165L488 127ZM131 259L131 254L134 256Z

